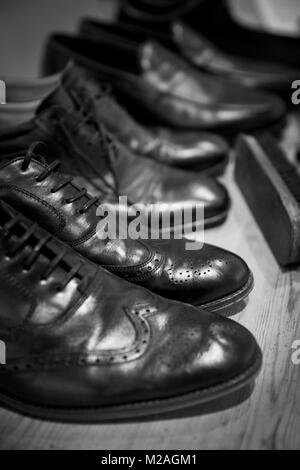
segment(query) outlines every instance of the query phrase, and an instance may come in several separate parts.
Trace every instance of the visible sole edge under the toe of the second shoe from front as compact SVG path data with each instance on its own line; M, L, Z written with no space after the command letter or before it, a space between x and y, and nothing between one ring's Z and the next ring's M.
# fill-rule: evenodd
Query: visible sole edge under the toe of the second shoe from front
M243 300L245 300L250 292L252 291L254 287L254 279L253 279L253 274L250 273L249 279L246 282L246 284L236 292L226 295L225 297L222 297L221 299L214 300L212 302L207 302L201 305L197 305L197 307L207 310L208 312L211 313L220 313L221 310L225 310L227 308L232 307L233 305L236 305ZM235 313L223 313L224 316L233 316Z

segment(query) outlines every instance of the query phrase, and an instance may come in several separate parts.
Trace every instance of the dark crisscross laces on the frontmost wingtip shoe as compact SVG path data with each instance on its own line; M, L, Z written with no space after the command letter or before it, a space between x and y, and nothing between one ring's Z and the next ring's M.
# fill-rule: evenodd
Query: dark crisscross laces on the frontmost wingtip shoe
M9 222L7 222L3 226L3 231L5 233L5 237L9 238L13 236L14 233L14 228L18 225L21 224L23 221L22 216L16 215L13 217ZM15 243L14 247L11 248L9 251L7 251L6 256L7 258L11 259L13 258L17 253L22 251L25 247L29 246L29 240L31 239L32 236L36 234L36 231L38 229L37 224L33 224L31 227L25 229L24 235L21 236ZM23 265L23 270L24 271L30 271L32 267L34 266L36 260L40 256L41 253L45 254L45 248L47 247L50 249L47 245L48 243L52 240L52 237L50 234L46 234L44 237L42 237L40 240L38 240L37 244L31 246L32 248L32 253L28 256L27 260L25 261ZM48 268L44 271L43 274L41 274L41 281L46 281L49 279L51 274L55 271L55 269L61 264L63 261L65 255L67 254L68 249L63 248L60 253L58 253L52 260L50 260ZM81 268L83 266L83 262L79 261L71 270L68 274L66 274L65 279L57 286L57 291L63 291L67 285L76 277L78 276ZM89 281L88 281L89 282ZM88 285L88 282L81 280L78 288L80 287L81 290L85 290L86 286Z

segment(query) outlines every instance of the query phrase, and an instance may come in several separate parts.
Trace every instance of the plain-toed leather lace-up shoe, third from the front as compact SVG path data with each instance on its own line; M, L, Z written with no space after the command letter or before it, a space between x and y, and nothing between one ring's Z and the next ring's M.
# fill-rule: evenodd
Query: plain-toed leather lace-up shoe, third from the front
M102 127L93 102L78 106L61 87L41 104L32 121L0 132L0 155L41 140L49 146L49 156L62 161L63 171L94 196L99 191L119 192L131 203L164 203L171 212L201 203L206 228L226 220L230 202L221 183L137 156L118 142L115 151Z

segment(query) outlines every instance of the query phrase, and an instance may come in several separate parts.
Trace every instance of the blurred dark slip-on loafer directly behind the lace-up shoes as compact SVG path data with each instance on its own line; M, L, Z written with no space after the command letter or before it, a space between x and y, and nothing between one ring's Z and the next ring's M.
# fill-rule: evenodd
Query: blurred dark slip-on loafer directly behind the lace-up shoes
M201 73L150 40L134 43L104 30L97 41L52 35L44 73L62 70L70 58L111 83L148 123L231 134L285 123L279 98Z

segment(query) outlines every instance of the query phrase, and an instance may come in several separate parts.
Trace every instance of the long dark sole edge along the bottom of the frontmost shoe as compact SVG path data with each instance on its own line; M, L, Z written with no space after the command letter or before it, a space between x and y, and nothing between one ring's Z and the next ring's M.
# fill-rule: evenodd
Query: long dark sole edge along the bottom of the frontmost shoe
M194 406L207 405L215 400L231 395L253 384L262 365L262 353L257 346L253 365L240 375L226 382L196 390L172 398L149 400L97 408L51 408L24 403L9 397L0 391L0 401L11 411L37 419L65 423L101 423L105 421L122 421L133 418L150 417Z

